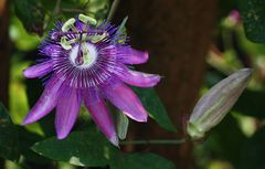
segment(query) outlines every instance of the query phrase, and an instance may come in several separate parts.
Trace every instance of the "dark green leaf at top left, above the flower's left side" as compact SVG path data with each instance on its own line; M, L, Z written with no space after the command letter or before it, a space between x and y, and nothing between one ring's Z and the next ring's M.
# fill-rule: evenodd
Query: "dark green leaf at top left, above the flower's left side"
M44 11L40 1L14 0L14 11L28 32L42 35Z

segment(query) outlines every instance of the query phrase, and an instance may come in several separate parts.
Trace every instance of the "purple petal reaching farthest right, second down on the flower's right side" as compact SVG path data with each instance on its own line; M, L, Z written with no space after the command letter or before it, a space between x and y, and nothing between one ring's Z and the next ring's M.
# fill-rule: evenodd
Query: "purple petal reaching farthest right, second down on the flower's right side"
M125 83L138 87L153 87L160 81L159 75L131 71L129 68L118 73L118 76Z

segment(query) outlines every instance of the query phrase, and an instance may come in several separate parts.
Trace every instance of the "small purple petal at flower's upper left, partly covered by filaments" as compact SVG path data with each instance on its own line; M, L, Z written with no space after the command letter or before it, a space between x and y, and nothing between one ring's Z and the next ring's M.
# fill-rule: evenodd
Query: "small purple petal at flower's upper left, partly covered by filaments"
M40 54L47 56L57 56L62 47L56 44L44 44L40 47Z

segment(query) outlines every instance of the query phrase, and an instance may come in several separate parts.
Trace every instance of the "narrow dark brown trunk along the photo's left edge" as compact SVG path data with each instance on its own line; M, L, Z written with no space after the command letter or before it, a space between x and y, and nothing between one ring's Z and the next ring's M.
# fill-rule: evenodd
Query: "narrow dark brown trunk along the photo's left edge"
M9 41L9 4L8 0L0 1L0 102L8 105L9 71L10 71L10 41Z

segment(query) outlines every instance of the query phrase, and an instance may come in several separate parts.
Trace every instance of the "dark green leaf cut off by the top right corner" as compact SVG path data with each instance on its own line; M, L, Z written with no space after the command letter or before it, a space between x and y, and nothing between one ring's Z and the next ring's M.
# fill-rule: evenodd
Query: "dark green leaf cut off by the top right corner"
M237 0L247 39L265 42L265 0Z

